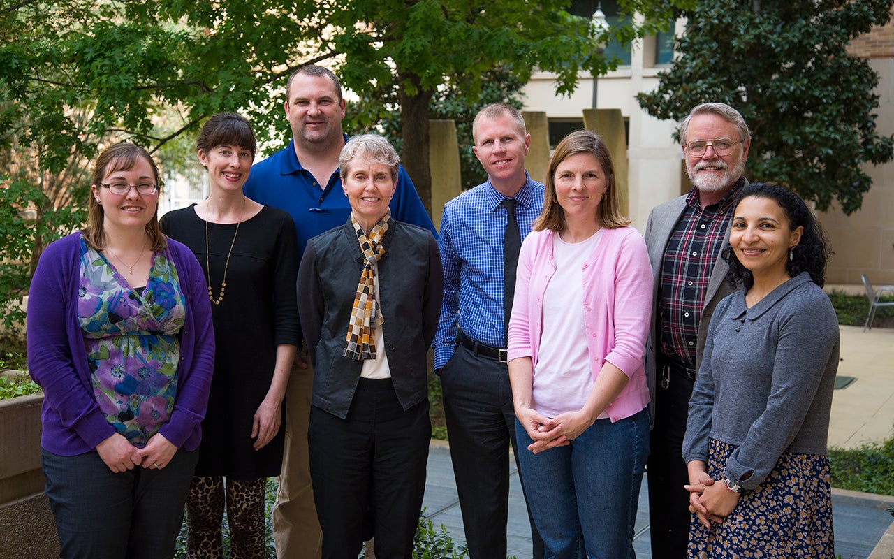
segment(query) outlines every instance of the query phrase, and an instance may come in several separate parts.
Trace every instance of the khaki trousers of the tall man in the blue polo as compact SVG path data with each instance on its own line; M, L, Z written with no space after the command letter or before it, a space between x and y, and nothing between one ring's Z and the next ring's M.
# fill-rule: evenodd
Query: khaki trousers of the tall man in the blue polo
M307 349L301 351L308 368L291 368L286 388L285 447L279 493L273 513L278 559L320 559L323 530L316 519L314 489L310 485L308 423L314 370Z

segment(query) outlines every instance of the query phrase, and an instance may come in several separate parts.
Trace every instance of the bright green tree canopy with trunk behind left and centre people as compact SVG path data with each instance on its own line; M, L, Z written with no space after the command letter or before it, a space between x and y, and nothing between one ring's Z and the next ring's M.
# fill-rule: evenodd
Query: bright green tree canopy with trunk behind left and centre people
M262 146L281 146L289 136L285 81L299 66L321 62L361 97L375 98L384 84L395 84L396 93L383 99L396 102L382 104L378 114L401 114L402 158L427 203L427 126L438 91L457 84L458 103L477 102L487 72L502 66L522 82L535 68L553 72L559 92L569 93L578 72L611 68L595 47L589 21L569 15L568 4L0 0L0 181L4 187L21 181L24 189L4 198L7 213L37 209L33 231L21 229L36 258L47 241L71 230L72 207L73 223L82 218L77 210L86 192L72 195L71 187L85 188L89 161L110 142L135 141L164 156L163 165L176 165L178 157L166 146L194 135L212 114L240 111ZM624 5L634 10L651 3ZM667 17L617 26L611 36L626 42L654 30L650 21ZM10 167L11 161L21 168ZM54 221L52 212L64 219ZM14 233L18 225L4 227ZM0 238L0 250L6 244ZM0 260L21 263L6 254ZM20 294L25 285L19 284Z

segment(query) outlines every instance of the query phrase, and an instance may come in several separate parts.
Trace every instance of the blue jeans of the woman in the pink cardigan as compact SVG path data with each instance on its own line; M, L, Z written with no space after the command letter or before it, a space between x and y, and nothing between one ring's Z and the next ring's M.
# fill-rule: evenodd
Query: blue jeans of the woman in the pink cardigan
M516 420L527 502L546 559L636 557L633 526L649 456L649 412L598 419L570 445L531 453ZM586 555L585 555L586 554Z

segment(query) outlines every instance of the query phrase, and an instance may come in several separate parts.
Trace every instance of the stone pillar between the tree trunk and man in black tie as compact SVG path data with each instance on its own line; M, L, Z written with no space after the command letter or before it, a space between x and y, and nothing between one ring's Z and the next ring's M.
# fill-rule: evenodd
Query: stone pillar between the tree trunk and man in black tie
M441 227L444 204L460 195L460 146L456 123L428 121L428 165L432 172L432 221Z

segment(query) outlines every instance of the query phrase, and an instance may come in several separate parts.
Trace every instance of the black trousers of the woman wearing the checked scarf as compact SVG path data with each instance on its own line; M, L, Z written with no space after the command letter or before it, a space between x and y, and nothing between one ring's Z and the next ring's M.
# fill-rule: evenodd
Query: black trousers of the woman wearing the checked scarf
M345 419L311 407L310 478L325 559L357 557L370 518L376 557L412 557L431 436L428 401L404 411L391 379L361 378Z

